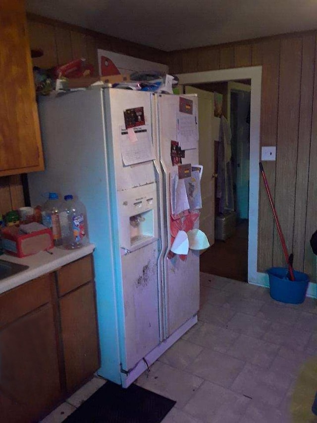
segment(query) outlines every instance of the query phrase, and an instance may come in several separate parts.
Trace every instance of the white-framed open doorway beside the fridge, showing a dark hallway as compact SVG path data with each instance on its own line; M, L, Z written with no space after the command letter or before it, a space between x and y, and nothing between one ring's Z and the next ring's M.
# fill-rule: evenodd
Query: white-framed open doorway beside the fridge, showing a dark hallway
M186 94L198 95L199 161L205 176L200 229L205 233L214 209L214 237L211 240L211 231L206 233L211 247L201 255L200 269L241 282L248 280L250 83L223 81L185 86ZM226 164L224 152L228 156ZM215 169L212 176L211 161Z

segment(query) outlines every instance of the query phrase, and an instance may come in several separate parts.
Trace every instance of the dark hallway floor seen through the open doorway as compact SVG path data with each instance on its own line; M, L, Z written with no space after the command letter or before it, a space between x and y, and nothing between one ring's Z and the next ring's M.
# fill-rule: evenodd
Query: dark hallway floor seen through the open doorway
M200 270L211 275L247 282L248 220L239 222L235 234L226 241L215 240L200 256Z

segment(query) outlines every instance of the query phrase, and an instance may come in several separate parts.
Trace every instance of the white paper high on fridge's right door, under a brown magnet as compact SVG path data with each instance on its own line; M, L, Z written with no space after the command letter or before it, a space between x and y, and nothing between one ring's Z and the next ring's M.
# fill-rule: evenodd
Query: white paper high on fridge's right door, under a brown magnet
M176 139L182 150L198 147L198 123L195 115L177 113Z

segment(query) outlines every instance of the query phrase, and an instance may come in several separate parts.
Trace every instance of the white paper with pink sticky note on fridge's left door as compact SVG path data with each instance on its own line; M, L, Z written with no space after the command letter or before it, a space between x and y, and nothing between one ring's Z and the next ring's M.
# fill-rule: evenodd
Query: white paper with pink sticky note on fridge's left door
M131 130L133 134L131 134ZM125 166L149 162L155 159L151 131L148 125L128 129L120 128L121 156Z

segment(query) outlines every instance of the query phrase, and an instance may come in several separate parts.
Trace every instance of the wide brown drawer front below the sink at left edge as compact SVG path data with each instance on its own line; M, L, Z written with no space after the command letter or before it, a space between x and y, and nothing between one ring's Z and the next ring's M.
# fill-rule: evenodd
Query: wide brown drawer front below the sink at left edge
M0 295L0 328L51 301L53 273L26 282Z

